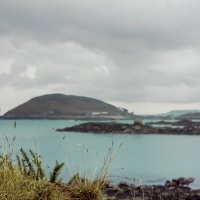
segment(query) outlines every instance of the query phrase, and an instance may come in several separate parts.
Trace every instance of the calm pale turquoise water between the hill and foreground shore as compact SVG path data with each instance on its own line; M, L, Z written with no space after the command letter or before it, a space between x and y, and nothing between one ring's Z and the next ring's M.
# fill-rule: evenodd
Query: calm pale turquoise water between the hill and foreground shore
M0 120L1 150L10 152L14 147L16 154L21 147L34 150L42 156L47 174L56 160L65 162L62 170L64 180L77 172L91 178L97 175L112 146L110 134L55 131L79 124L79 121L16 122L15 128L14 120ZM200 188L200 136L115 134L113 141L114 160L110 165L110 180L129 181L138 185L163 184L167 179L184 176L194 177L195 182L191 186ZM118 152L115 152L119 146Z

